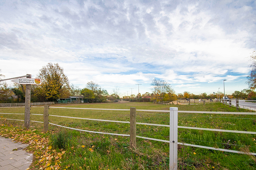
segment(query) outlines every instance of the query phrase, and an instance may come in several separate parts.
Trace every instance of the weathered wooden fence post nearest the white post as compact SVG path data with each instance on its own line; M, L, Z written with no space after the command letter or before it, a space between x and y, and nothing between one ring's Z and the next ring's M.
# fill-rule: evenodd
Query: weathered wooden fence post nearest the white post
M130 107L130 142L136 147L136 107Z

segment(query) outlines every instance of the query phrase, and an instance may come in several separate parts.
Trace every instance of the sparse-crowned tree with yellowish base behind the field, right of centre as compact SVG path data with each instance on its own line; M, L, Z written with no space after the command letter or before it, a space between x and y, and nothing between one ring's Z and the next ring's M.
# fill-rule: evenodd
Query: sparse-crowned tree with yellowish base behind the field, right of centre
M170 84L165 82L164 80L154 78L152 80L151 86L153 87L151 90L154 93L153 100L161 101L163 100L166 94L175 94L175 91L173 90L172 86L170 86Z

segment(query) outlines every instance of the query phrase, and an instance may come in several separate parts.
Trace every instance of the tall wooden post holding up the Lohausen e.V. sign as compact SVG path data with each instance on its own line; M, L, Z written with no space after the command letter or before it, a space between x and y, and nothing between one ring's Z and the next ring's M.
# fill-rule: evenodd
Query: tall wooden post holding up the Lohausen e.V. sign
M31 78L31 74L27 74L27 78ZM25 117L24 117L24 127L26 129L29 129L30 127L30 97L31 97L31 84L26 84Z

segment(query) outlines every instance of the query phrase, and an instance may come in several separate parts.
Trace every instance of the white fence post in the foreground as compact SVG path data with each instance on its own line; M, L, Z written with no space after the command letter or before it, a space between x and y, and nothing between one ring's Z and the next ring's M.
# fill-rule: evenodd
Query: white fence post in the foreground
M178 107L170 107L170 170L178 169Z

